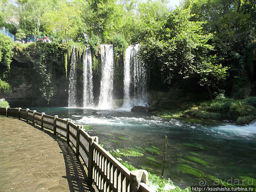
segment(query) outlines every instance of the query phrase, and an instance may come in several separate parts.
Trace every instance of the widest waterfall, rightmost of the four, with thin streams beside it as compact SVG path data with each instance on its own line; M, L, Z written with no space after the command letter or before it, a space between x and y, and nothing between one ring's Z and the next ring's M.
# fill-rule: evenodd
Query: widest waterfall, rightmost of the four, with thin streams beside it
M124 60L124 109L147 104L147 69L138 59L139 45L129 46Z

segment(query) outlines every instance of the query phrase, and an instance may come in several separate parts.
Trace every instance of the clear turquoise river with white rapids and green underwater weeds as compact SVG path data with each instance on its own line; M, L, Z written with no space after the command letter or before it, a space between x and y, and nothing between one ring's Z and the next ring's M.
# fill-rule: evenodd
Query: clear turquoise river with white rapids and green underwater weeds
M158 176L164 138L168 136L164 178L170 178L181 188L200 182L212 185L216 180L232 183L239 179L240 184L242 180L244 185L256 184L256 122L237 126L225 121L170 119L121 110L42 107L31 110L84 125L91 136L99 137L106 150L119 149L125 154L121 154L122 161Z

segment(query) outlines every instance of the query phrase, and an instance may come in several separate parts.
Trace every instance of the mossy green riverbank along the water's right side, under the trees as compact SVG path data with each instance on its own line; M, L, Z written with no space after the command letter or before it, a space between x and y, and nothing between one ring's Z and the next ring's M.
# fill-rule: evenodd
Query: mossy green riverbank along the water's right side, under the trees
M216 97L210 101L184 101L161 98L151 105L157 109L153 113L165 118L199 118L212 120L231 120L237 124L249 124L256 119L256 97L235 100L225 97ZM164 108L161 108L164 106ZM169 108L169 109L168 109Z

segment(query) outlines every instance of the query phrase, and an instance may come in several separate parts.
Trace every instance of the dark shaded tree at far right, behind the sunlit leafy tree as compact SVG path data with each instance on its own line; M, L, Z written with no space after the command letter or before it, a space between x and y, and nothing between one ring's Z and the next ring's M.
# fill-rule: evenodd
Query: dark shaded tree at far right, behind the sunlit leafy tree
M228 92L239 96L239 90L250 87L253 50L255 49L255 0L185 0L183 8L193 15L190 20L203 22L203 31L213 33L213 54L223 66L229 67ZM250 91L249 91L250 92ZM245 97L246 95L242 95Z

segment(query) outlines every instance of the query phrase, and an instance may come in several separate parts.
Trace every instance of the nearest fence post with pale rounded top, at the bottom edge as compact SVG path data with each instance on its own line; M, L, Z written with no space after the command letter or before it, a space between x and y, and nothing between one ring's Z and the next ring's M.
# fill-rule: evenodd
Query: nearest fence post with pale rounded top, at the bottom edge
M140 182L148 184L148 172L143 169L133 170L130 173L130 191L138 191Z

